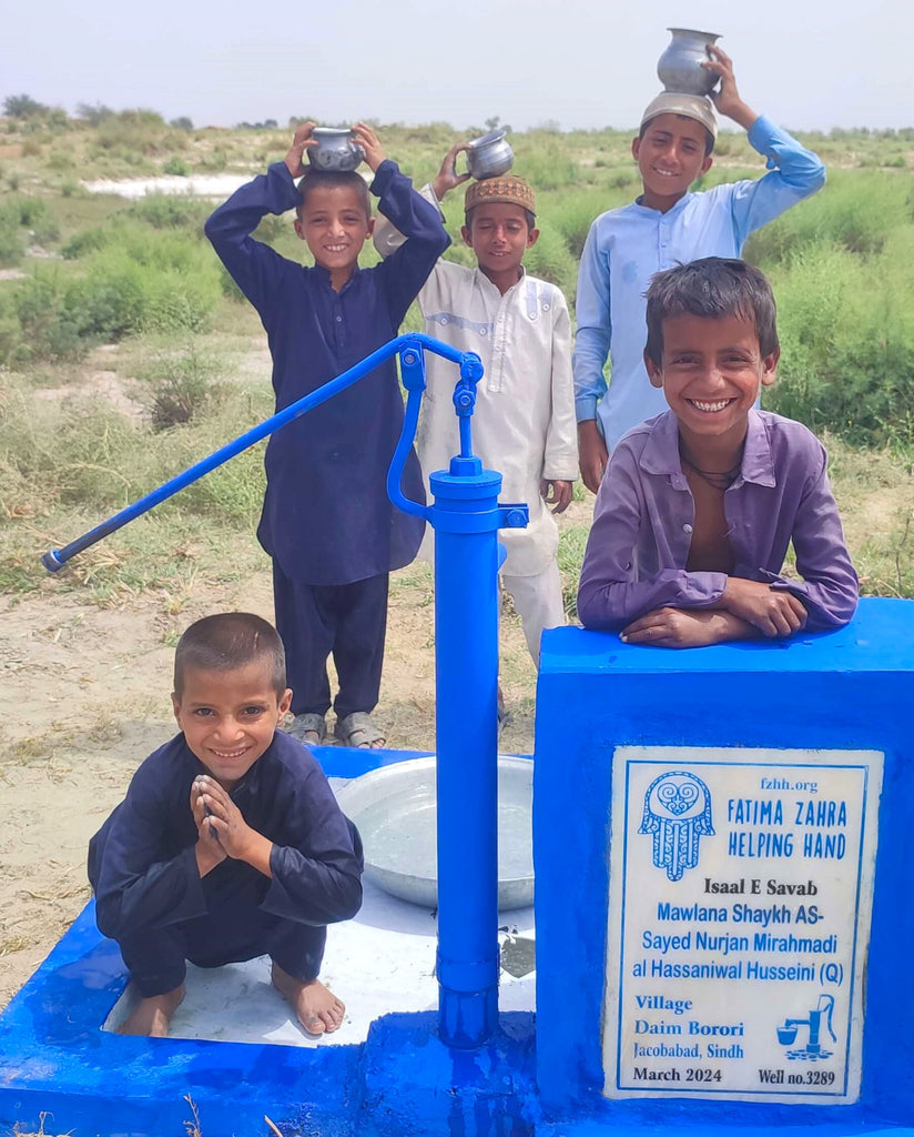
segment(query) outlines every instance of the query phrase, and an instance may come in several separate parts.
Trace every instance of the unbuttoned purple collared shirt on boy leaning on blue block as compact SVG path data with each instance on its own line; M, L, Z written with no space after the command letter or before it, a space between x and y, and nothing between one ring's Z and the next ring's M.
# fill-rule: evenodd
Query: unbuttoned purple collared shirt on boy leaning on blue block
M802 423L749 410L743 465L723 495L732 575L783 588L807 630L846 624L857 574L825 473L825 450ZM578 589L585 628L617 630L654 608L707 608L727 574L688 572L695 503L672 410L629 431L599 487ZM790 541L803 581L780 575Z

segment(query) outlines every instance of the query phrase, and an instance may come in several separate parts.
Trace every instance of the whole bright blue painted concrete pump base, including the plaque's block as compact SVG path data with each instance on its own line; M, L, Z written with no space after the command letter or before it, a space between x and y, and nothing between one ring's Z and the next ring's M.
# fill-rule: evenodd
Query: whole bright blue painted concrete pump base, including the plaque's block
M537 1015L476 1051L434 1012L359 1045L127 1038L101 1023L127 980L91 905L0 1015L0 1129L74 1137L914 1137L914 604L865 600L841 631L661 652L544 637L535 829ZM634 746L879 750L861 1093L841 1105L603 1096L613 755ZM330 777L413 756L322 748ZM471 825L467 839L472 839ZM772 988L773 989L773 988Z

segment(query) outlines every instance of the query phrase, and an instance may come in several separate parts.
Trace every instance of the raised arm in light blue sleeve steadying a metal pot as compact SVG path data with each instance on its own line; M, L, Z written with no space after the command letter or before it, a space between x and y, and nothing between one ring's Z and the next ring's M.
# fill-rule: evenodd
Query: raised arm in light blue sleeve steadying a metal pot
M749 144L768 159L770 171L757 181L722 188L732 194L733 233L737 249L741 249L749 233L820 190L825 182L825 167L817 155L787 131L752 110L740 98L730 57L720 48L708 50L712 58L702 66L721 81L720 91L712 93L711 99L721 115L744 127Z

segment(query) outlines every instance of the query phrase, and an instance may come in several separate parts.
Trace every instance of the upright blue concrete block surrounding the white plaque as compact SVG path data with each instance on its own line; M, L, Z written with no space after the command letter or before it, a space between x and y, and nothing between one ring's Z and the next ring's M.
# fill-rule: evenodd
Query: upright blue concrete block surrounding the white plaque
M741 1134L773 1128L844 1135L891 1126L896 1134L912 1131L912 645L914 603L873 598L861 601L846 628L777 642L677 652L573 628L547 633L534 777L537 1087L547 1117L561 1122L556 1135L688 1126L703 1132L732 1126ZM627 1087L614 1099L604 1096L604 1015L613 994L607 960L619 951L607 931L610 905L618 904L611 858L621 847L612 819L624 791L614 769L619 749L628 747L710 748L718 757L732 754L733 762L740 748L882 755L872 923L862 947L865 1023L856 1101L765 1102L761 1090L753 1099L715 1101L711 1090L677 1096L676 1087L662 1098L624 1096ZM678 769L677 762L689 760L661 761ZM726 828L720 814L715 825L718 832ZM653 870L649 857L639 864L644 889ZM777 982L771 994L783 997ZM581 1128L567 1123L576 1115L588 1119Z

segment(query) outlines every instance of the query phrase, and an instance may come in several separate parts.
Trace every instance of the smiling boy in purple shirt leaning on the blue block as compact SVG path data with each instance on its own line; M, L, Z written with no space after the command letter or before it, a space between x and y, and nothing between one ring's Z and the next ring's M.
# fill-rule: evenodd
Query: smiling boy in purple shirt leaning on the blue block
M701 647L852 617L857 575L825 451L800 423L753 408L779 356L757 268L705 257L653 277L644 359L670 409L606 467L578 591L586 628ZM802 581L780 575L791 541Z

